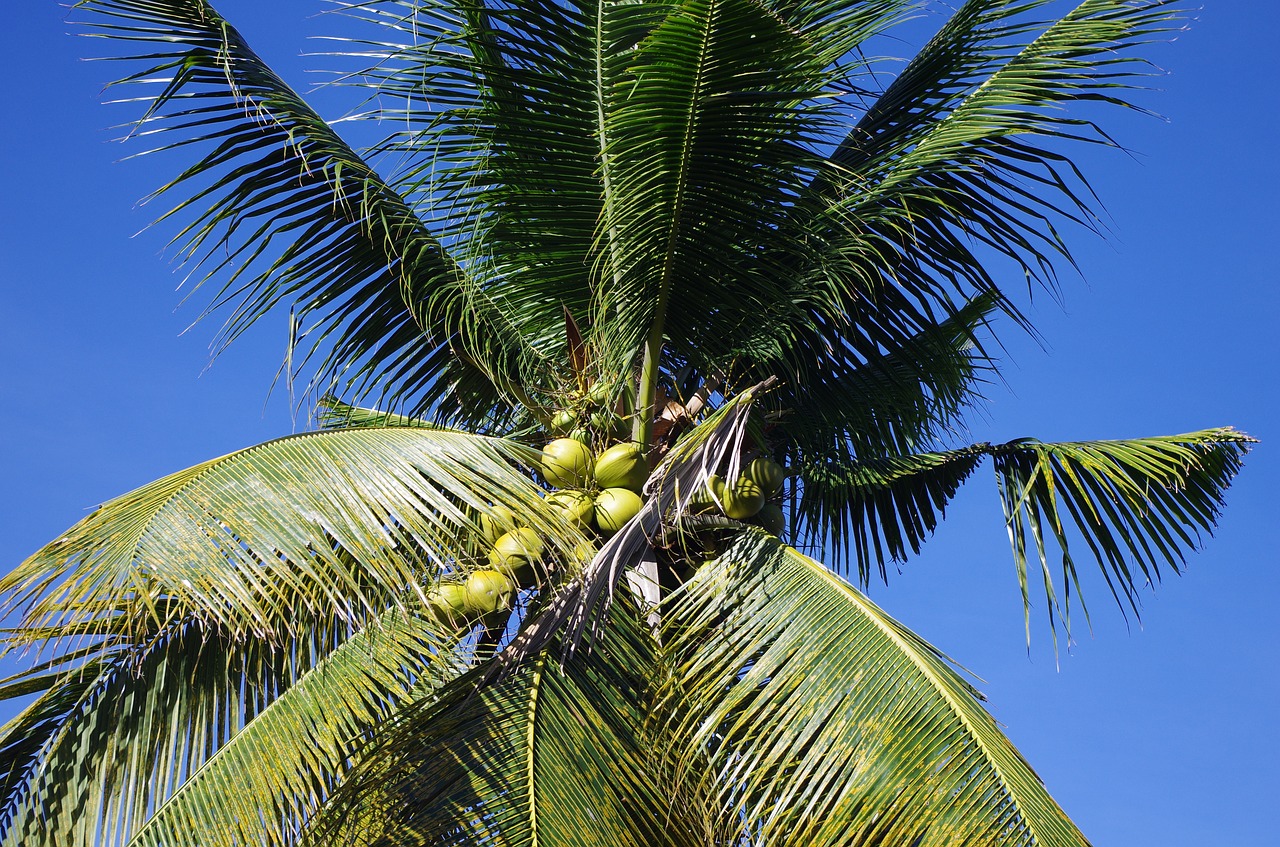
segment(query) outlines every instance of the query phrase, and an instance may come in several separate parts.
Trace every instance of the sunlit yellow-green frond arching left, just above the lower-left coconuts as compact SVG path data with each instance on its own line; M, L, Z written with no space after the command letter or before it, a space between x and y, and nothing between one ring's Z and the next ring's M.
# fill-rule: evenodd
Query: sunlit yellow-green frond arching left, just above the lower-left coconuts
M511 441L411 427L268 441L102 504L0 580L0 596L29 627L123 609L131 636L188 617L268 640L298 610L360 621L466 569L492 504L572 550L581 536L548 513L534 462Z

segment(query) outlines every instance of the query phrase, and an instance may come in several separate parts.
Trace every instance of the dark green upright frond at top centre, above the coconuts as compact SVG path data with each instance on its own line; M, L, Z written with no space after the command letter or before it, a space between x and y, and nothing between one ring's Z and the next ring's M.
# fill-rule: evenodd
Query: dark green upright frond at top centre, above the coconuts
M828 75L808 47L764 4L685 0L627 55L604 122L600 224L616 274L602 311L623 347L666 326L675 356L723 356L786 302L754 260L817 161L806 141Z

